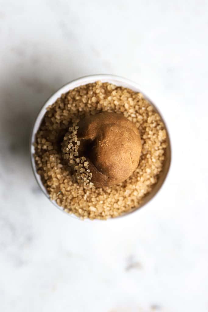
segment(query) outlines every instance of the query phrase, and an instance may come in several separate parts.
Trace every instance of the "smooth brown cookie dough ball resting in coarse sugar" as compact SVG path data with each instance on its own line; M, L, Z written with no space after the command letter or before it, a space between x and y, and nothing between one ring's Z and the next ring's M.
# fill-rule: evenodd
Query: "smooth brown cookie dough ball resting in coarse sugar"
M137 127L122 114L98 113L80 120L79 155L85 156L96 187L126 180L137 168L141 139Z

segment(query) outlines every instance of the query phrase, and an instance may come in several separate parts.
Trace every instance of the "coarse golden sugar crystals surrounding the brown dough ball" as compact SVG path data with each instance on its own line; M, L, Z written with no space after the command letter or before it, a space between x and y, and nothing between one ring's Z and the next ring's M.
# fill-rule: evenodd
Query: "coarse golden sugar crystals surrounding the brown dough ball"
M78 120L102 111L123 114L136 124L142 152L138 168L126 181L95 188L92 183L78 183L64 158L62 142ZM37 173L51 200L78 217L107 219L141 205L162 170L167 142L160 116L141 93L97 81L62 94L47 108L34 145Z

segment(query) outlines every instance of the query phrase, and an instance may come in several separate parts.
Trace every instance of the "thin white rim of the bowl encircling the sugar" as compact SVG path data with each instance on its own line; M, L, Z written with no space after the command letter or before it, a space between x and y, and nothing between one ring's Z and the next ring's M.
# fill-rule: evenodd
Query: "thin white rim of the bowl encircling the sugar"
M150 98L143 92L143 90L141 89L140 85L138 85L136 82L133 82L129 79L126 79L126 78L123 78L123 77L119 77L119 76L116 76L116 75L108 75L108 74L100 74L100 75L90 75L90 76L84 76L84 77L81 77L81 78L78 78L78 79L75 79L75 80L72 80L71 82L67 83L66 85L62 86L59 90L57 90L54 94L52 94L49 99L45 102L45 104L43 105L43 107L41 108L41 110L39 111L37 117L36 117L36 120L35 120L35 123L34 123L34 126L32 128L32 132L31 132L31 137L30 137L30 158L31 158L31 166L32 166L32 170L33 170L33 173L34 173L34 176L36 178L36 181L39 185L39 187L41 188L42 192L46 195L46 197L50 200L50 202L52 202L56 208L58 208L59 210L64 211L63 207L60 207L57 205L57 203L54 201L54 200L51 200L50 199L50 196L49 194L47 193L45 187L43 186L43 183L41 181L41 178L40 178L40 175L37 174L36 172L36 166L35 166L35 159L34 159L34 152L35 152L35 149L34 149L34 142L35 142L35 135L36 135L36 132L37 130L39 129L40 127L40 124L41 124L41 121L46 113L46 108L49 106L49 105L52 105L60 96L61 94L63 93L66 93L68 92L69 90L72 90L80 85L86 85L88 83L93 83L97 80L100 80L101 82L109 82L109 83L112 83L114 85L117 85L117 86L122 86L122 87L125 87L125 88L129 88L133 91L136 91L136 92L141 92L144 96L145 99L147 99L152 105L153 107L155 108L155 110L159 113L163 123L165 124L165 121L164 121L164 118L162 117L160 111L158 110L157 106L152 102L152 100L150 100ZM167 129L167 125L165 124L165 127L166 127L166 131L167 131L167 136L168 136L168 140L169 140L169 145L170 145L170 135L169 135L169 131ZM171 145L170 145L170 150L171 150ZM168 175L168 172L170 170L170 164L169 164L169 167L168 167L168 170L167 170L167 174L160 186L160 188L158 189L158 191L153 195L152 198L154 198L158 193L159 191L161 190L162 188L162 185L164 185L164 182L165 180L167 179L167 175ZM157 184L157 183L156 183ZM115 218L109 218L107 219L108 221L109 220L117 220L118 218L121 218L121 217L127 217L127 216L130 216L133 214L133 212L136 212L138 210L140 210L140 208L146 206L149 204L149 202L152 200L152 198L150 198L150 200L144 204L142 204L141 206L129 211L129 212L126 212L126 213L123 213L122 215L118 216L118 217L115 217ZM67 212L65 212L67 215L75 218L75 219L78 219L78 220L81 220L79 217L75 216L74 214L69 214ZM99 220L99 219L94 219L94 220L90 220L90 219L85 219L86 220L89 220L89 221L103 221L103 220Z

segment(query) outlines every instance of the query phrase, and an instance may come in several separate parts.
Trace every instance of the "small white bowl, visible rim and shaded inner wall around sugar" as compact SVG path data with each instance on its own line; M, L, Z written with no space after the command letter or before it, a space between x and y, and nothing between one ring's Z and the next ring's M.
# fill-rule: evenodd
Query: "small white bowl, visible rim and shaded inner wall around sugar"
M32 129L32 133L31 133L31 139L30 139L30 155L31 155L31 165L32 165L32 169L33 169L33 173L35 175L35 178L36 178L36 181L38 183L38 185L40 186L41 190L43 191L43 193L46 195L46 197L60 210L64 211L64 209L60 206L57 205L57 203L53 200L50 199L50 196L49 194L47 193L45 187L43 186L43 183L41 181L41 178L39 176L39 174L37 174L36 172L36 166L35 166L35 159L34 159L34 152L35 152L35 149L34 149L34 142L35 142L35 135L36 135L36 132L37 130L39 129L40 127L40 124L41 124L41 121L46 113L46 108L49 106L49 105L52 105L56 100L57 98L59 98L61 96L61 94L63 93L66 93L68 92L69 90L72 90L80 85L86 85L88 83L93 83L97 80L100 80L101 82L109 82L109 83L112 83L114 85L117 85L117 86L122 86L122 87L125 87L125 88L129 88L133 91L136 91L136 92L141 92L143 94L143 96L145 97L145 99L147 99L149 101L149 103L152 104L152 106L154 107L154 109L157 111L157 113L160 115L164 125L165 125L165 129L166 129L166 132L167 132L167 143L168 143L168 146L167 146L167 149L166 149L166 154L165 154L165 161L164 161L164 166L163 166L163 170L162 172L160 173L159 175L159 179L157 181L157 183L153 186L152 188L152 191L144 197L144 200L143 200L143 203L141 206L139 206L138 208L135 208L133 210L131 210L130 212L127 212L127 213L124 213L122 214L121 216L119 217L116 217L116 219L122 217L122 216L126 216L132 212L135 212L137 211L139 208L143 207L144 205L146 205L155 195L156 193L158 193L159 189L162 187L162 184L164 183L166 177L167 177L167 173L169 171L169 168L170 168L170 162L171 162L171 146L170 146L170 138L169 138L169 134L168 134L168 130L167 130L167 126L164 122L164 119L162 118L162 115L161 113L159 112L159 110L157 109L157 107L154 105L154 103L152 102L152 100L150 100L148 98L148 96L146 96L144 94L144 92L140 89L139 85L131 80L128 80L128 79L125 79L125 78L122 78L122 77L119 77L119 76L114 76L114 75L92 75L92 76L85 76L85 77L81 77L79 79L76 79L76 80L73 80L69 83L67 83L66 85L64 85L63 87L61 87L58 91L56 91L53 95L51 95L51 97L46 101L46 103L43 105L43 107L41 108L40 112L38 113L37 115L37 118L35 120L35 124L33 126L33 129ZM76 218L76 219L79 219L79 217L76 217L75 215L73 214L69 214L67 213L68 215ZM115 218L110 218L108 220L113 220ZM97 220L97 221L100 221L100 220Z

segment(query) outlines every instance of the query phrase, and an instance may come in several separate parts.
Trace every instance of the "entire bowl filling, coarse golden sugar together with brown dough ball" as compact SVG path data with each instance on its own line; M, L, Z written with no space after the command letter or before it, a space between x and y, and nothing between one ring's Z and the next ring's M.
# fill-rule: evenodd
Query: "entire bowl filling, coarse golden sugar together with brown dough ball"
M35 161L51 200L81 218L107 219L139 207L166 146L161 118L141 93L97 81L47 108Z

